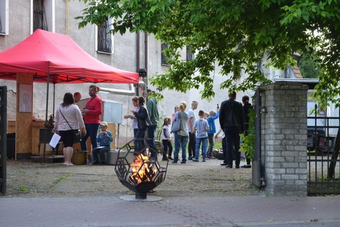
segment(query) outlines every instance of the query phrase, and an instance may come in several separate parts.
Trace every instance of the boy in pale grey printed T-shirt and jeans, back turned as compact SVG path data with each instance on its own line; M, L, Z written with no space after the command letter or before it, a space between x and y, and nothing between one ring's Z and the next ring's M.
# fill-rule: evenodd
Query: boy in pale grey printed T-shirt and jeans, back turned
M196 153L195 153L195 159L192 161L198 162L200 157L200 146L202 142L202 156L203 160L202 162L205 162L205 158L207 155L207 141L208 141L208 134L207 131L209 130L208 121L204 119L204 111L200 110L198 112L198 116L200 117L197 119L193 125L193 130L196 131Z

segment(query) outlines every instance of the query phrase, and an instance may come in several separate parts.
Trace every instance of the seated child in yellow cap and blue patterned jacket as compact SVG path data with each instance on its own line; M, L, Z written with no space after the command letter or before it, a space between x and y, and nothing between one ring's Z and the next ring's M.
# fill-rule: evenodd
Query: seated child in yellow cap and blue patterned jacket
M92 155L94 163L92 165L105 165L105 152L110 150L111 142L113 141L113 136L111 131L107 130L107 123L102 121L100 123L100 132L97 134L97 143L99 147L92 149ZM98 154L99 159L98 159ZM100 161L100 162L99 162Z

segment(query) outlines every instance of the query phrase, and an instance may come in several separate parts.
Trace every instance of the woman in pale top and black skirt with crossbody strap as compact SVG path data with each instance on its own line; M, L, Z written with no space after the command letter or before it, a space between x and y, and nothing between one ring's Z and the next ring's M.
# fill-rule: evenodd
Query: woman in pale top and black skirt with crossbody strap
M63 103L60 104L55 111L55 123L52 132L59 131L61 140L63 141L63 153L65 156L64 165L71 166L71 158L73 155L74 133L72 130L79 130L82 134L86 134L82 113L79 107L74 104L74 98L71 93L64 95Z

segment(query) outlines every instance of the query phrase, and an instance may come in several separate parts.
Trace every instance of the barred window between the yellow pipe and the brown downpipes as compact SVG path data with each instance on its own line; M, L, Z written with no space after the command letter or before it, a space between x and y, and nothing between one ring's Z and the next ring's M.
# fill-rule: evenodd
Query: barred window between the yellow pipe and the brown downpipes
M106 20L102 25L98 25L98 46L97 51L112 53L112 35L110 32L109 20Z

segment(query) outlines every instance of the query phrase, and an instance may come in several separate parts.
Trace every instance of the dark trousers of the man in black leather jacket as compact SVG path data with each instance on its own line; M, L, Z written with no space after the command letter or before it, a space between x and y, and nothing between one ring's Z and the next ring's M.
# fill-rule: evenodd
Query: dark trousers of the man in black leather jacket
M233 166L233 146L235 148L235 165L240 165L240 134L241 129L238 127L225 127L223 129L225 134L225 146L227 152L228 166Z

